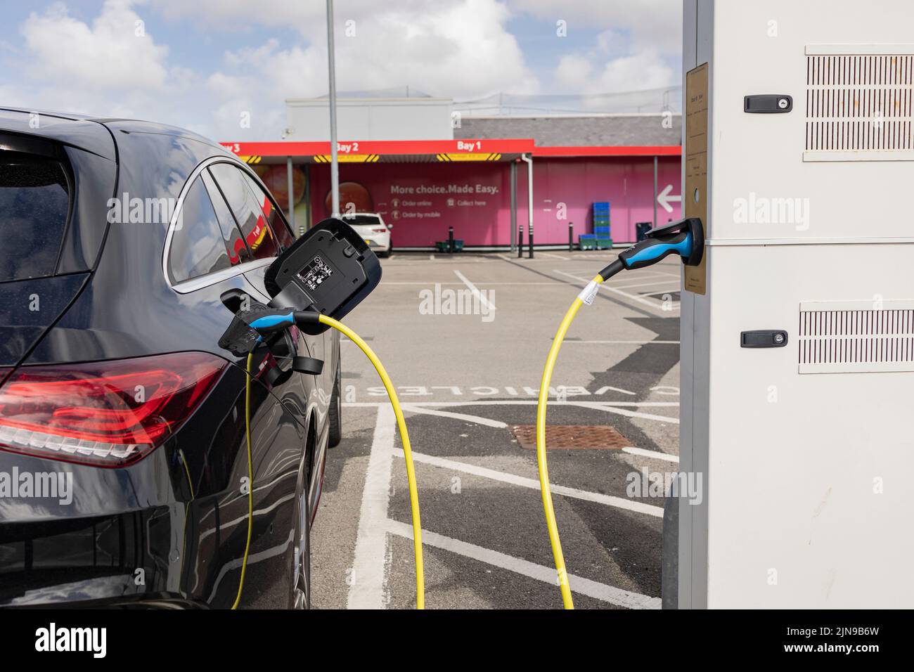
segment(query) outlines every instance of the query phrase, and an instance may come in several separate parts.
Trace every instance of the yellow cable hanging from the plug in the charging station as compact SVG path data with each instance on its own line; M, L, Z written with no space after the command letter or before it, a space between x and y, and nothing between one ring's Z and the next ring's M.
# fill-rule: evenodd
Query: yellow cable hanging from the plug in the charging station
M600 285L603 283L603 276L596 275L590 282ZM587 290L585 290L585 292L587 292ZM562 347L562 341L565 340L565 334L569 330L571 321L574 319L575 315L578 315L580 306L583 304L583 299L581 296L578 296L558 325L556 337L552 339L552 347L549 348L549 355L546 358L546 366L543 368L543 379L539 383L539 400L537 401L537 467L539 469L539 491L543 496L543 508L546 511L546 527L549 530L549 543L552 545L552 557L556 560L558 590L562 593L562 603L565 605L566 609L574 609L574 603L571 601L569 575L568 571L565 569L565 556L562 555L562 542L558 539L556 512L552 508L552 491L549 489L549 470L546 464L546 404L549 400L549 382L552 380L552 370L556 368L556 359L558 359L558 348Z

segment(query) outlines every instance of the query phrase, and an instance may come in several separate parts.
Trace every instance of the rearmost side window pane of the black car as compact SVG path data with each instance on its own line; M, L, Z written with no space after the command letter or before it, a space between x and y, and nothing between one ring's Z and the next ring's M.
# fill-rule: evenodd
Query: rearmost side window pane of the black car
M197 177L187 190L172 234L168 273L172 283L182 283L227 268L231 262L216 210Z

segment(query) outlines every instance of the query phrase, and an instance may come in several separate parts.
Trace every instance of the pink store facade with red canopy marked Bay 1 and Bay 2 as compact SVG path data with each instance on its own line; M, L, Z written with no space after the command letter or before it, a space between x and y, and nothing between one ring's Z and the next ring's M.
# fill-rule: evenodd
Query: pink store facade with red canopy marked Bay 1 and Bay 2
M296 227L329 217L329 144L224 145L254 168L283 209L292 207ZM537 147L515 139L339 146L341 208L382 215L401 251L431 250L450 227L469 249L507 250L518 227L526 243L528 165L537 248L567 248L569 224L575 241L592 232L594 201L611 203L615 243L635 240L637 222L680 217L678 146Z

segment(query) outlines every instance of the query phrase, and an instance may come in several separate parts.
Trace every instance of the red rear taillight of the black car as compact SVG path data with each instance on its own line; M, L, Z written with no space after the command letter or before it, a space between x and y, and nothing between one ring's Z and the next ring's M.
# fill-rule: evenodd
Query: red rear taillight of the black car
M226 367L202 352L23 367L0 386L0 450L98 466L150 453Z

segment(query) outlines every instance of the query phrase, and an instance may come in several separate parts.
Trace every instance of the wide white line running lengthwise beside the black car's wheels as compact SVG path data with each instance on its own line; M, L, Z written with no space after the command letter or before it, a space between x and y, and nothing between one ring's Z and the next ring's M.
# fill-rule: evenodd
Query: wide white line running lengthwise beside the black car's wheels
M384 609L384 580L388 519L388 493L393 470L394 411L389 405L377 407L375 436L368 456L362 507L359 510L356 552L353 556L352 584L346 602L348 609Z

